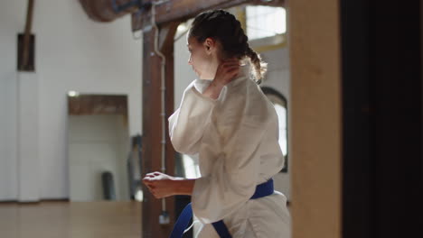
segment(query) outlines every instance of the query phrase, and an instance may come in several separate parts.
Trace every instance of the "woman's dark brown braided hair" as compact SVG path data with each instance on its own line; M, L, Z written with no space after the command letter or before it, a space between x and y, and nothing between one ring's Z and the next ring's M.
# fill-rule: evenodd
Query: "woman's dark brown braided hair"
M224 10L211 10L195 17L189 37L202 43L207 38L221 42L222 50L230 58L249 59L253 76L259 84L264 78L268 64L249 47L249 38L233 14Z

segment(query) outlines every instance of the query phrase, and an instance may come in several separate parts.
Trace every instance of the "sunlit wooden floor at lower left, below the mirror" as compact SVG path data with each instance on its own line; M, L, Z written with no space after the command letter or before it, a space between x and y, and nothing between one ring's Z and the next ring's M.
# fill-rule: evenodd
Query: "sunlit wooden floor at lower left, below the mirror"
M1 238L140 238L139 202L0 203Z

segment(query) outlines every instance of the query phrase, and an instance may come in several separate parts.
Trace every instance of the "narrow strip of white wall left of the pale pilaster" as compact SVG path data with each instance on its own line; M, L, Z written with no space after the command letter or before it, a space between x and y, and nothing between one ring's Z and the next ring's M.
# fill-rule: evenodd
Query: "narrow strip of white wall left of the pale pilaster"
M0 3L0 199L18 197L16 32L24 29L25 1Z

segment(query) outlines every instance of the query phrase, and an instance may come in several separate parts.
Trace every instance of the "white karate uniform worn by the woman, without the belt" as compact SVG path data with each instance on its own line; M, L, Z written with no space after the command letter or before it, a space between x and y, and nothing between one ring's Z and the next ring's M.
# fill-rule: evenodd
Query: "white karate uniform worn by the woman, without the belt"
M249 199L284 165L274 106L249 79L249 66L216 100L202 96L210 82L194 80L169 117L174 149L199 155L202 177L195 181L192 203L204 225L197 237L219 237L211 223L221 219L233 238L290 237L283 194Z

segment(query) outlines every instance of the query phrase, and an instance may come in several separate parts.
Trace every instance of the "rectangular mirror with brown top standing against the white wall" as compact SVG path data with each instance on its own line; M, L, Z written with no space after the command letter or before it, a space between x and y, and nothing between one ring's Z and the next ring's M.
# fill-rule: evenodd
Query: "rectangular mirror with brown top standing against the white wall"
M71 201L139 197L140 138L129 138L126 95L68 94ZM137 192L138 191L138 192Z

